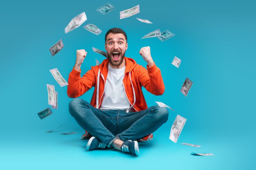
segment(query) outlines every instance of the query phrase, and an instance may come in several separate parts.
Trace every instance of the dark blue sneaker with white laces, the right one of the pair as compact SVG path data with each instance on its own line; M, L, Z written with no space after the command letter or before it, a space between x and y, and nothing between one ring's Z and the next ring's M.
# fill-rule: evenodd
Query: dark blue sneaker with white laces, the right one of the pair
M121 146L121 151L124 153L130 153L132 155L138 156L140 153L138 142L131 140L125 141Z

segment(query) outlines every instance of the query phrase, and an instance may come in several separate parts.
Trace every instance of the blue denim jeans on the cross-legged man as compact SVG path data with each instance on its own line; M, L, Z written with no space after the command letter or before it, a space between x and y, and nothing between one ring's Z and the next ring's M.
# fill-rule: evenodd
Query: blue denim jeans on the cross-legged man
M158 105L139 112L125 111L99 110L80 98L69 103L69 112L76 122L108 147L116 139L139 140L153 133L168 120L169 115L166 107Z

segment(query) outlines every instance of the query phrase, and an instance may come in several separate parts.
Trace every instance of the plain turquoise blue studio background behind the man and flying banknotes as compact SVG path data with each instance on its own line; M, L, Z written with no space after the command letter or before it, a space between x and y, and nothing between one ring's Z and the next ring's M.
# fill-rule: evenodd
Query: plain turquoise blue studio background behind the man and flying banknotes
M115 10L97 12L110 3ZM140 13L119 18L119 12L140 4ZM65 34L69 21L85 11L82 26ZM255 159L255 1L11 1L0 5L0 168L1 169L254 169ZM148 19L153 24L136 18ZM98 26L98 36L83 28ZM84 130L68 112L67 86L60 87L49 70L58 68L68 80L76 50L88 54L82 75L103 56L105 33L112 27L128 36L126 56L146 67L140 48L151 47L165 84L162 96L144 89L148 106L162 101L168 121L154 139L140 143L140 156L114 149L86 151ZM147 33L168 29L167 41L141 39ZM51 56L49 48L62 39L64 48ZM173 66L177 56L180 68ZM185 97L180 88L186 78L193 85ZM37 113L48 105L46 84L55 85L58 109L40 120ZM81 96L91 100L93 88ZM187 118L177 144L169 139L179 114ZM62 127L52 133L46 130ZM74 135L60 135L76 131ZM200 148L180 143L202 145ZM214 153L216 156L193 156Z

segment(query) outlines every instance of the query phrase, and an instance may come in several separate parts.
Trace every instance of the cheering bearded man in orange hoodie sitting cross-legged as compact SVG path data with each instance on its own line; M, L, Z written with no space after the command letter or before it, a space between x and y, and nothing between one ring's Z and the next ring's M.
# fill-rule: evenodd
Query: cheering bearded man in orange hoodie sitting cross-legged
M137 140L152 137L168 120L168 110L158 105L147 107L141 86L155 95L164 93L161 71L150 55L150 47L140 49L148 63L147 70L132 58L124 56L128 48L126 33L112 28L105 35L108 58L93 66L81 78L81 64L87 52L76 51L76 63L68 77L68 97L76 98L95 87L91 103L76 98L69 103L69 112L76 122L90 133L86 148L115 149L139 155Z

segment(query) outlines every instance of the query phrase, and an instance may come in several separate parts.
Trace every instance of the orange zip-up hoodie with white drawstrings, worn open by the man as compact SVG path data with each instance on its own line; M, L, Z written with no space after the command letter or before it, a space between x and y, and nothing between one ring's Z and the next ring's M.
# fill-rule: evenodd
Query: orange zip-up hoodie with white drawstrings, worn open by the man
M148 106L141 87L145 87L152 94L162 95L164 93L164 82L161 71L155 63L152 67L147 65L146 70L132 58L124 57L124 60L126 68L123 84L131 105L126 112L145 110ZM100 108L108 75L108 63L108 59L105 59L99 66L92 66L92 69L88 70L82 78L81 69L77 71L73 68L68 77L68 97L79 97L94 86L95 89L90 104L93 107ZM150 137L153 137L152 134Z

